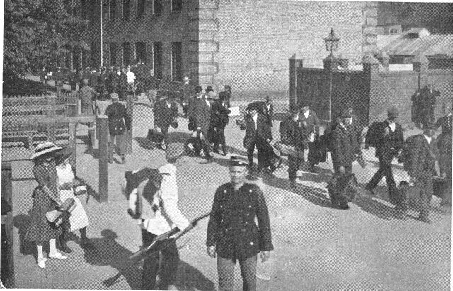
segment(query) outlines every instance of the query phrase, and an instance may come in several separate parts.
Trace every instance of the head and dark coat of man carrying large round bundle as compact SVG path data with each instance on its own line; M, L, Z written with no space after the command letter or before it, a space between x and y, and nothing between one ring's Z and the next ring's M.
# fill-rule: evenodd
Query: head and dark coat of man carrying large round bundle
M356 154L360 152L354 132L347 126L351 114L345 109L341 112L341 119L331 133L331 156L333 169L336 175L349 175L352 173L352 163Z

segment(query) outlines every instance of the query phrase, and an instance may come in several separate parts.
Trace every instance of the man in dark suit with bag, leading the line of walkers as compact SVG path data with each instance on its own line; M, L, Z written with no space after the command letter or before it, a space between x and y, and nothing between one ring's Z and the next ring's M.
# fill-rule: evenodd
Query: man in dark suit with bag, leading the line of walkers
M163 98L157 103L155 125L164 135L165 146L168 147L168 128L175 125L178 118L178 105L171 97ZM158 147L162 148L161 144Z

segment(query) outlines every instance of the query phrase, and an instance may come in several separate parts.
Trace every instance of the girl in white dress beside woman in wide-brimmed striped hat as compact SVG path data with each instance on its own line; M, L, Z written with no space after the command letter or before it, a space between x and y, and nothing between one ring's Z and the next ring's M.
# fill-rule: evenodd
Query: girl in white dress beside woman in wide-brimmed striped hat
M60 188L60 199L64 202L67 198L72 198L75 201L76 207L72 210L71 215L69 216L69 223L71 224L71 232L74 232L76 229L80 230L81 236L81 246L91 246L88 238L86 237L86 227L89 225L88 217L84 207L82 206L79 198L76 198L74 195L74 172L72 167L69 164L69 156L71 152L65 152L62 156L57 158L57 176L59 179L59 188ZM60 242L62 246L66 246L64 240L64 234L66 229L63 229L63 234L60 236ZM66 246L67 247L67 246ZM69 248L68 248L69 249ZM71 250L69 249L69 252Z

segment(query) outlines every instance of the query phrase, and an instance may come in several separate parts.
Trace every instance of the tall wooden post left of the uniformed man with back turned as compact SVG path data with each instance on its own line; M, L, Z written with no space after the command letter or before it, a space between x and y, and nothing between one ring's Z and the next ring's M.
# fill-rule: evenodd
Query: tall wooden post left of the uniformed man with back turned
M108 200L108 117L96 118L96 130L99 135L99 202Z

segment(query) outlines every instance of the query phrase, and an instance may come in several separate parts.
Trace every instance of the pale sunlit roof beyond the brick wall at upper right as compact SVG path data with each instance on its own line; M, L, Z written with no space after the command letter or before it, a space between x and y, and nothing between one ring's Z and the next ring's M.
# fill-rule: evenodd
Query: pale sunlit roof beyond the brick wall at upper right
M411 30L410 30L411 31ZM391 55L447 55L453 57L453 35L434 34L412 38L411 33L402 35L377 35L377 47Z

